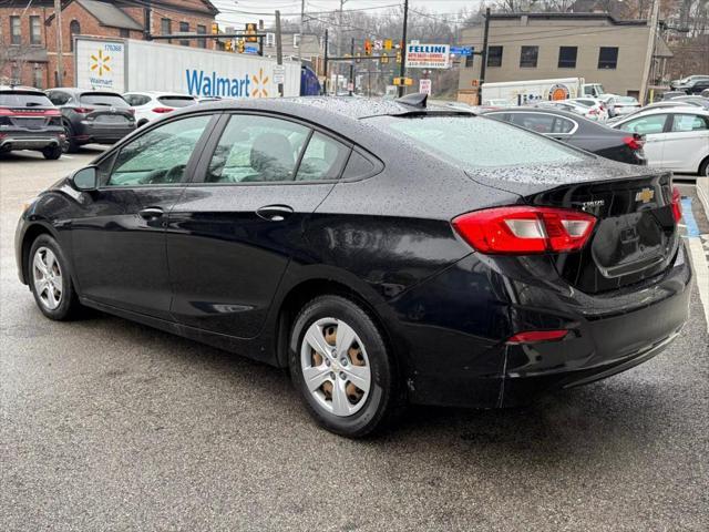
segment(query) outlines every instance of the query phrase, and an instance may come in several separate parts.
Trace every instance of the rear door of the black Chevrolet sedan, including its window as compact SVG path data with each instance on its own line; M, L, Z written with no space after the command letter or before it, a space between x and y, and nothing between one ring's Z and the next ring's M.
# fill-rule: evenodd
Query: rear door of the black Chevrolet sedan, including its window
M169 215L172 314L184 325L258 335L289 260L308 254L304 223L351 146L307 124L226 114Z

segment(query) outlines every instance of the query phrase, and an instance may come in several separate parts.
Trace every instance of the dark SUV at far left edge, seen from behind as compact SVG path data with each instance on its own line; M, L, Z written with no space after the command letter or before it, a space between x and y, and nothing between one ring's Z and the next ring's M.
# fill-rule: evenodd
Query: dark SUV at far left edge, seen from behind
M0 153L35 150L54 160L63 143L61 114L42 91L0 85Z

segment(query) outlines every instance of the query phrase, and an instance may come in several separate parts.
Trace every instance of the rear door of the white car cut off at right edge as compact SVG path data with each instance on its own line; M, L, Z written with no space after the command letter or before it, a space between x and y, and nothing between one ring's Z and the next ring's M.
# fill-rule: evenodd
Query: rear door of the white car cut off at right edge
M697 172L709 152L709 117L689 113L670 116L662 166L676 172Z

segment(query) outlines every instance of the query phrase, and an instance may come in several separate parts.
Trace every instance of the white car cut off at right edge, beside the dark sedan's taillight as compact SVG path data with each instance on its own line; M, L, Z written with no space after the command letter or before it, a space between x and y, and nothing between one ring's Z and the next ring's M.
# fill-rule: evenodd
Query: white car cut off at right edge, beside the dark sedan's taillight
M709 111L690 105L650 109L613 127L645 135L649 166L709 176Z

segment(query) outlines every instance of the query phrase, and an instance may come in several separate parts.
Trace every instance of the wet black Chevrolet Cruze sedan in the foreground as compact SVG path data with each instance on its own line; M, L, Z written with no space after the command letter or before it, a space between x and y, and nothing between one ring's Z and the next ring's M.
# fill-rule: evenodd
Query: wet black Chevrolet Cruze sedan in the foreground
M667 172L403 101L218 102L30 203L39 309L101 309L289 367L360 437L407 401L503 407L624 371L687 319Z

